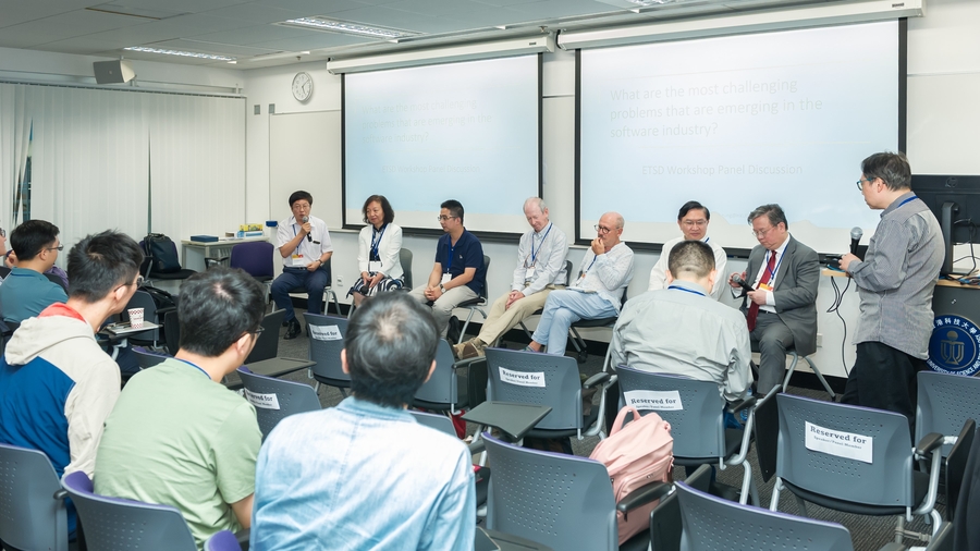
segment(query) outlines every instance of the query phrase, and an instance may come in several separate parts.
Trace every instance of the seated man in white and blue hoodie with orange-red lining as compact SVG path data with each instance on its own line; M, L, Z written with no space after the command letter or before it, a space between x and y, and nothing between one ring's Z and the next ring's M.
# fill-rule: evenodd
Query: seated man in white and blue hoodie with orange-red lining
M71 296L24 320L0 358L0 442L40 450L54 472L93 476L119 367L94 333L136 291L143 252L127 235L89 235L69 253ZM52 283L53 284L53 283ZM74 529L74 509L69 509Z

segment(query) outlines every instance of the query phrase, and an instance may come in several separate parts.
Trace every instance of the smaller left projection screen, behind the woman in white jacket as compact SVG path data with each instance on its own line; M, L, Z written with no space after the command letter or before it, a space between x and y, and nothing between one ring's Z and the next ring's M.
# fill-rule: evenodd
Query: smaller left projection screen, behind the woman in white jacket
M469 231L518 234L540 193L540 57L344 75L344 225L367 197L395 223L439 230L457 199Z

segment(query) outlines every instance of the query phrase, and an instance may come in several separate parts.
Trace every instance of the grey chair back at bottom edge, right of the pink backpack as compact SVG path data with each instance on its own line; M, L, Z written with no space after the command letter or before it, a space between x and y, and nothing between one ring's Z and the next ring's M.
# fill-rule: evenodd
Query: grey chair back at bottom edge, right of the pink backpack
M677 482L682 551L799 549L853 551L850 532L825 523L738 504Z

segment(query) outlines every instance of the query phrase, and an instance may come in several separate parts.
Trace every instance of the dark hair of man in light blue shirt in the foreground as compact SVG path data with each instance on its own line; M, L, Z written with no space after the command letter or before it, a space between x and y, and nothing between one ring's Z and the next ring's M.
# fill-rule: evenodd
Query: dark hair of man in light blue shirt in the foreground
M358 399L390 407L412 403L438 344L431 308L407 293L381 293L363 303L347 322L344 350L351 390Z

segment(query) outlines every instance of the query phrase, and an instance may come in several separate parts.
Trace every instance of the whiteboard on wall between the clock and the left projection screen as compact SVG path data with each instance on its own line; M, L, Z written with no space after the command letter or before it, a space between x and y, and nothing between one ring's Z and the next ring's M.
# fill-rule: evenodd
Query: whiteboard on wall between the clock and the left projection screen
M341 226L341 113L273 114L269 121L269 212L290 217L290 194L314 196L311 213L327 226Z

